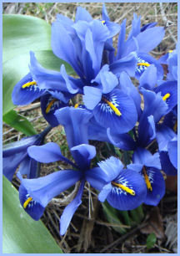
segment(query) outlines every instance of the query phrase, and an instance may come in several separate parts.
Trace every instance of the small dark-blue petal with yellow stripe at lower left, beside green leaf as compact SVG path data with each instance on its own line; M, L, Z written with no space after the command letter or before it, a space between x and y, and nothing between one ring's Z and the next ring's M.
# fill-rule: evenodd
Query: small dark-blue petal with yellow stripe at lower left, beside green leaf
M39 220L45 210L40 203L34 201L28 194L28 191L23 185L19 187L19 201L24 210L34 219Z

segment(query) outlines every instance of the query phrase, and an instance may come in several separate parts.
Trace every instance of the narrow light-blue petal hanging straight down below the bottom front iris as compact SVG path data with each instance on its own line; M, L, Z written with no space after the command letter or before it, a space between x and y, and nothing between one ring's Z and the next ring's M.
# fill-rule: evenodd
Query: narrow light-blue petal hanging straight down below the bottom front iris
M64 235L66 233L69 223L71 222L72 216L74 212L76 212L77 207L82 203L82 192L84 188L84 181L81 182L79 190L77 192L77 196L70 202L67 207L64 209L62 213L62 217L60 219L60 235Z

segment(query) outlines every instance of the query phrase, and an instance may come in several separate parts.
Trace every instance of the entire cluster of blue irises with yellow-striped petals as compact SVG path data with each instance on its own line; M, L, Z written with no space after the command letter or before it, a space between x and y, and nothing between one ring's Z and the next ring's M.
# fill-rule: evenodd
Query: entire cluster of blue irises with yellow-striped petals
M44 69L31 52L29 73L14 87L15 105L40 98L47 122L52 127L63 125L74 162L62 156L56 143L43 145L44 131L4 148L3 173L12 180L20 166L20 202L35 220L53 197L79 182L76 196L62 213L61 235L82 202L86 181L99 191L101 202L107 199L124 211L142 203L158 205L165 193L162 170L177 175L177 49L158 60L149 54L165 34L156 25L141 27L140 17L134 14L126 39L126 20L121 25L112 23L105 6L102 20L93 20L81 7L75 21L59 14L52 23L52 50L79 78L67 75L64 65L60 72ZM116 50L112 38L117 33ZM167 75L162 64L168 65ZM138 86L131 78L138 79ZM82 102L72 105L76 95L82 95ZM132 163L124 167L111 156L91 167L96 148L89 140L133 151ZM72 169L37 177L37 162L53 161L65 161Z

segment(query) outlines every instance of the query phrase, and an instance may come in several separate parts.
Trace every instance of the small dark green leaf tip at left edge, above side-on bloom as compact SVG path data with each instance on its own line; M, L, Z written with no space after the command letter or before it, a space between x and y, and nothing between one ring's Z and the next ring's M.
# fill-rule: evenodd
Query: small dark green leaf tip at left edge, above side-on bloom
M16 111L11 110L3 115L3 121L15 128L18 131L22 131L27 136L32 136L37 134L36 130L33 128L32 124L23 115L19 115Z

